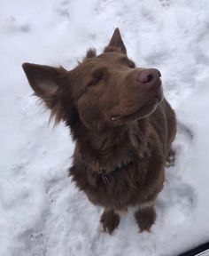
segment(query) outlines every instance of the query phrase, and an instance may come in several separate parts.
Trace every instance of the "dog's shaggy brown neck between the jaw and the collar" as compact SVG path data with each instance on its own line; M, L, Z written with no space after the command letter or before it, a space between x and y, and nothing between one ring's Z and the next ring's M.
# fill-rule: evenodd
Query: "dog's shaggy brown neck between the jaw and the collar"
M147 153L148 131L144 119L108 132L86 132L76 139L76 148L94 172L111 173L127 168Z

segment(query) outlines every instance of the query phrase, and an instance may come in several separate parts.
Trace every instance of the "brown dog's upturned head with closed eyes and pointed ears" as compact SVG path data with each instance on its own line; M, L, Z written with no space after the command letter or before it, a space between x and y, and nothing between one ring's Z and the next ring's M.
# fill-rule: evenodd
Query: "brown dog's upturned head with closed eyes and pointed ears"
M89 50L70 71L30 63L24 63L23 69L57 122L80 123L88 130L149 116L163 99L159 70L135 67L118 28L102 54Z

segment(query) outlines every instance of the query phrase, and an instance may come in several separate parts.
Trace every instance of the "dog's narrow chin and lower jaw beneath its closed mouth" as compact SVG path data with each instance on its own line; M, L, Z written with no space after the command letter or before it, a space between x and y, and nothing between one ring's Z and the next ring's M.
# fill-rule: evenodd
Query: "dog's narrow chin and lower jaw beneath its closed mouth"
M150 100L149 102L146 102L143 104L140 108L135 108L135 111L128 115L116 115L111 117L111 121L113 126L118 126L121 124L126 124L130 121L135 121L142 119L146 116L150 116L156 108L158 108L159 104L162 102L163 96L159 98L154 98L153 100Z

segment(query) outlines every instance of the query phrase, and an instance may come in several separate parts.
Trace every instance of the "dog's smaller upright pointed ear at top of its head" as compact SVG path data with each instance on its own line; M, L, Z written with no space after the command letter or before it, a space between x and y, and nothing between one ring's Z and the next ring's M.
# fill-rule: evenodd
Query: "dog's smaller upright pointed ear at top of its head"
M119 28L115 28L111 41L104 48L104 52L121 52L127 55L127 49L120 36Z

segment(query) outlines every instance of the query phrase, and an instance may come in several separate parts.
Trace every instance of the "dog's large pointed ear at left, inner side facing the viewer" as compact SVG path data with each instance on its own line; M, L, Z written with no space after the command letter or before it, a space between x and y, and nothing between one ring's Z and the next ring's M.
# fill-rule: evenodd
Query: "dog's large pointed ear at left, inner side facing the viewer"
M35 95L40 97L48 108L53 108L61 76L66 70L64 68L52 68L31 63L23 63L22 68L26 73L29 84L35 91Z

